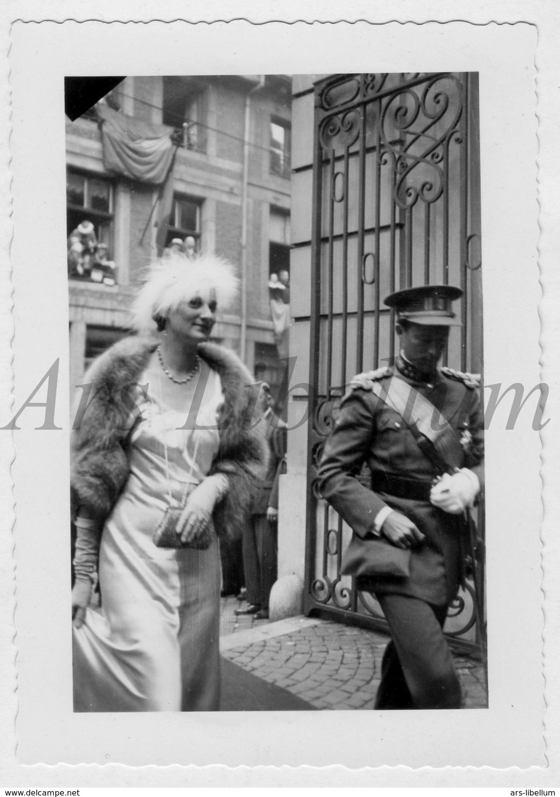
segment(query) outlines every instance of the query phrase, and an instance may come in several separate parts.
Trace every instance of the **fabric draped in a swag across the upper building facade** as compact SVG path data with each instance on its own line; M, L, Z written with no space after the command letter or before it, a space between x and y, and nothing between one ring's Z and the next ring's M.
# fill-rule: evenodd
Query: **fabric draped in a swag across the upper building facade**
M174 146L173 128L152 124L114 111L107 104L96 107L102 122L103 160L107 171L141 183L161 185L168 175Z

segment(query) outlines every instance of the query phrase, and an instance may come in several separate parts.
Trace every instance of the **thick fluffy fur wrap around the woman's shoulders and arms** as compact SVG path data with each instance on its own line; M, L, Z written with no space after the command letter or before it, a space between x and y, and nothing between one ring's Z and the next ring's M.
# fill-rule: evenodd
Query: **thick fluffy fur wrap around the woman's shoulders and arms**
M84 377L92 383L92 400L72 432L72 505L86 505L105 520L126 484L130 469L127 438L136 409L128 389L139 383L157 344L137 336L120 340L96 359ZM247 413L253 379L229 351L204 343L198 353L217 371L224 393L220 420L220 450L212 473L225 473L229 491L213 513L218 536L241 534L249 505L268 461L264 427L250 428Z

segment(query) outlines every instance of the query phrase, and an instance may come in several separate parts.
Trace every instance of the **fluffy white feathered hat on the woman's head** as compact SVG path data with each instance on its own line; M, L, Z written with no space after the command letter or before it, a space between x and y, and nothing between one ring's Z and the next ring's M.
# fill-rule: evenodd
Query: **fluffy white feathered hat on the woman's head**
M212 254L186 257L171 252L155 261L132 305L131 326L136 332L155 332L156 317L166 318L183 301L200 296L216 300L218 311L229 307L237 295L239 280L231 263Z

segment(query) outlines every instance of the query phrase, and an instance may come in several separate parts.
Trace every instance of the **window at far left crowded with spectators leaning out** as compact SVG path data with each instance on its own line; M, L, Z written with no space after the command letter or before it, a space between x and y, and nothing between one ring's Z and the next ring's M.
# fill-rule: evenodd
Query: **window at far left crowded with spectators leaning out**
M115 285L113 184L79 171L66 174L69 277Z

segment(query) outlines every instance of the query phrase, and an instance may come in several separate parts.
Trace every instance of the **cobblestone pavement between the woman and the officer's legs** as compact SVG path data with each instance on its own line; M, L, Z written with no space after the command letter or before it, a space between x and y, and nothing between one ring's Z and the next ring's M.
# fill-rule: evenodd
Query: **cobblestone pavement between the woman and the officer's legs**
M236 638L231 631L226 630L222 655L231 662L264 681L288 689L315 709L373 709L382 654L388 641L386 634L303 618L298 630L294 630L296 618L292 618L289 626L292 633L284 633L288 626L280 623L271 623L259 631L264 625L262 621L247 617L240 620L233 633L241 630L249 633L239 635L239 646L235 646ZM274 635L276 630L278 635ZM263 634L267 638L262 638ZM464 707L485 708L487 699L480 663L457 654L455 661L464 688Z

